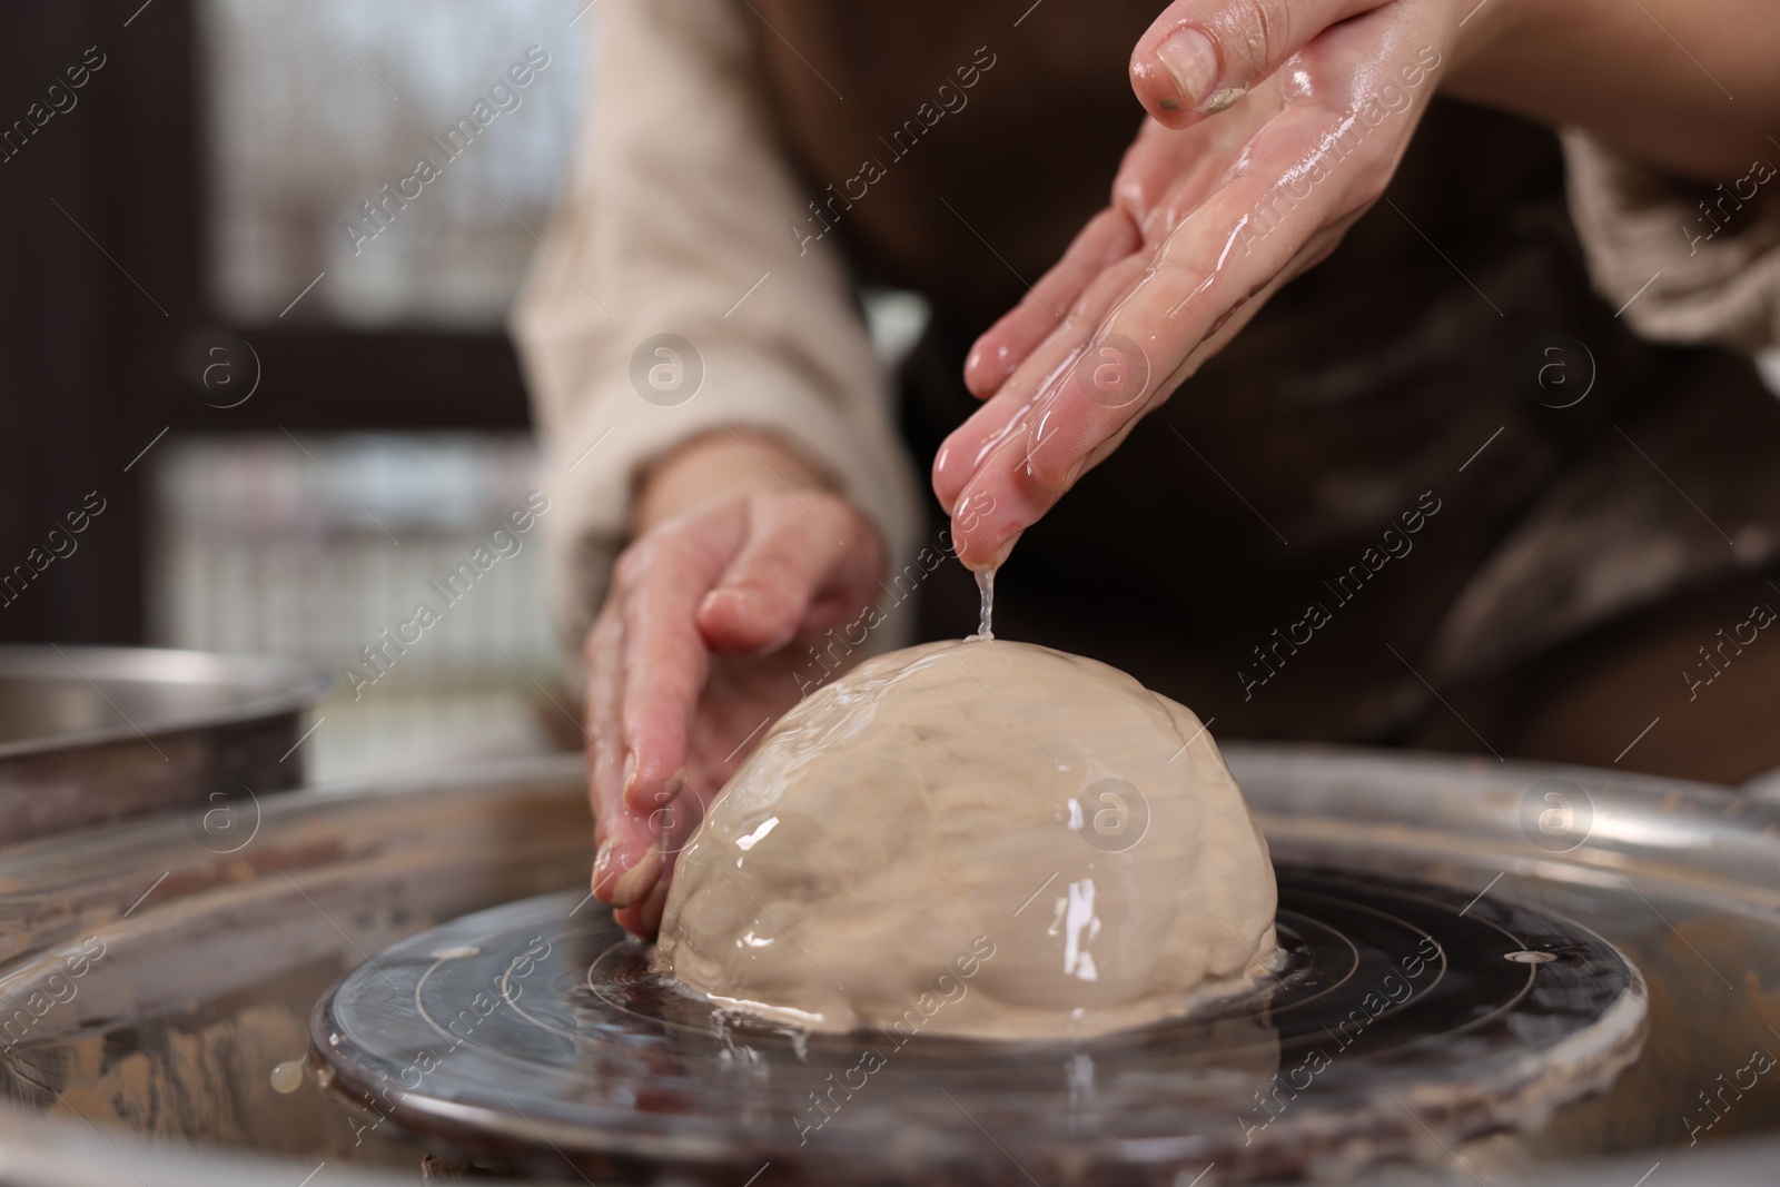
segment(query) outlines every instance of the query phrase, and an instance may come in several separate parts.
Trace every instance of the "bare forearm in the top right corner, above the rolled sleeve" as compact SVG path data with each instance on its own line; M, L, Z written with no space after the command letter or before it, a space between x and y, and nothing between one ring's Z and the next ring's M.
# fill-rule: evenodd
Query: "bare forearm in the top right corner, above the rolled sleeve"
M1776 61L1775 0L1485 0L1442 91L1721 182L1780 155Z

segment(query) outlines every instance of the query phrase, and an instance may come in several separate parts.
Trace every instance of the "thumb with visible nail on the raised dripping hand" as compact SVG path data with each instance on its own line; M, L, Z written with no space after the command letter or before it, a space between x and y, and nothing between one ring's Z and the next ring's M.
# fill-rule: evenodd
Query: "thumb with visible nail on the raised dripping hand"
M1175 0L1137 37L1130 85L1153 119L1185 128L1232 107L1324 28L1387 0Z

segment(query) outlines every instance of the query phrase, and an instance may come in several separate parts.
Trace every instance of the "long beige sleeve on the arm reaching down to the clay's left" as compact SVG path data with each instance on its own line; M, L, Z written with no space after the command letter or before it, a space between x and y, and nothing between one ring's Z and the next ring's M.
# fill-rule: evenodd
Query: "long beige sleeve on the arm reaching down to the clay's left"
M918 521L838 253L799 249L787 230L808 198L765 105L755 18L733 0L605 0L598 16L573 180L513 315L571 655L627 541L635 475L692 436L751 425L785 438L876 520L892 561L915 550ZM692 349L657 354L657 335ZM651 386L651 370L678 390Z

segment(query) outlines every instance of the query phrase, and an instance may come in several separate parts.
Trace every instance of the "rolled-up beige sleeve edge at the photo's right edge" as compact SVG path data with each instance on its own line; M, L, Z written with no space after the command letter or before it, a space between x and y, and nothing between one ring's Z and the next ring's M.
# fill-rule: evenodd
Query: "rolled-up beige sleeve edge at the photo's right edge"
M1780 343L1780 151L1712 189L1563 132L1570 214L1595 288L1645 338ZM1707 210L1702 210L1702 199Z

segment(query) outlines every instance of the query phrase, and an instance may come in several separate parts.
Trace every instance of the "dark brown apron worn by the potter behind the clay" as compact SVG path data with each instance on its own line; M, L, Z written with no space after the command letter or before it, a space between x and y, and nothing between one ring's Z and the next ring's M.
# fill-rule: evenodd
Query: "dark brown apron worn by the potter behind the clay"
M858 279L934 304L904 375L926 468L974 408L972 338L1105 205L1141 121L1130 46L1159 4L753 9L812 198L881 166L835 222ZM1746 361L1639 342L1593 295L1556 137L1436 100L1388 198L1025 534L999 635L1116 664L1223 735L1509 753L1538 749L1520 740L1579 646L1766 589L1780 408ZM927 637L974 628L958 566L924 594ZM1648 666L1666 682L1650 703L1689 690L1668 662ZM1709 774L1764 762L1780 755Z

